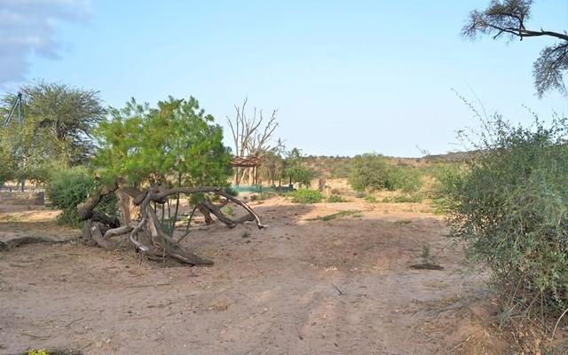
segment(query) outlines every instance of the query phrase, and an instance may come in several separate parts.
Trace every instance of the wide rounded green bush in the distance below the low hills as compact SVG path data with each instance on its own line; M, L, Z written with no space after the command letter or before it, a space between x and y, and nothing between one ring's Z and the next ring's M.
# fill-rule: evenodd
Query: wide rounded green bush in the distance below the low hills
M410 193L420 189L422 175L413 167L393 165L383 155L362 154L351 161L349 183L359 192L386 189Z

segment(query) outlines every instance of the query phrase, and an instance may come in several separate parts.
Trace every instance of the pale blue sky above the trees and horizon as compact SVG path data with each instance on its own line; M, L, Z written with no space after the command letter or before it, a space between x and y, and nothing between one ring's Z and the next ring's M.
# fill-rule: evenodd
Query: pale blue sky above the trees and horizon
M554 41L471 42L489 0L0 0L0 92L45 81L99 91L108 106L193 96L225 127L234 105L268 115L304 154L391 156L463 149L477 127L456 92L530 125L568 114L538 99L533 61ZM529 28L568 30L568 1L533 4ZM527 108L528 107L528 108Z

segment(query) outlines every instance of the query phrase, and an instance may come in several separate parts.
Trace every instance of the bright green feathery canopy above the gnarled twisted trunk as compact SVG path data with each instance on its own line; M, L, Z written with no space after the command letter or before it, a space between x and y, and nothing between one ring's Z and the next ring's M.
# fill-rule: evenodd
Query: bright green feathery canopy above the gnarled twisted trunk
M107 184L122 177L135 185L227 185L231 154L223 129L193 97L170 97L157 107L131 99L110 114L96 130L93 160Z

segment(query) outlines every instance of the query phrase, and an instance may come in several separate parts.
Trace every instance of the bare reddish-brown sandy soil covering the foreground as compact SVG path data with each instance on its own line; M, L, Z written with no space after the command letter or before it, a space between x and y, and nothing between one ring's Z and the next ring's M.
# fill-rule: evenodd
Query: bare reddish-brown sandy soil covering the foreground
M497 353L484 275L424 206L251 205L270 228L213 225L183 241L212 267L71 243L0 253L0 353ZM340 210L361 212L311 220ZM0 235L78 233L54 217L0 209ZM410 268L426 261L443 270Z

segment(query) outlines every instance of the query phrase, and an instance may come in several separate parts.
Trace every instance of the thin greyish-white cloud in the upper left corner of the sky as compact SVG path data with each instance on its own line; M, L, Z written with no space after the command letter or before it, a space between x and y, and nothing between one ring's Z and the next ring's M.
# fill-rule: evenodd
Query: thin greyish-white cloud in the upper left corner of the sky
M88 0L0 0L0 85L24 80L34 53L59 59L58 23L87 20Z

